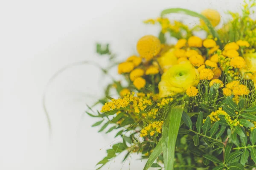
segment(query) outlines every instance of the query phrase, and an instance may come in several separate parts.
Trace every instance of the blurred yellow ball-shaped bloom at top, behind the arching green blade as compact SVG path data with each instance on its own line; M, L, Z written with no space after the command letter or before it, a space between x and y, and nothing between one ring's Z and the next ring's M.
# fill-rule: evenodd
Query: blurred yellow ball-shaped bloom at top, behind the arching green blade
M213 9L205 9L201 12L204 17L207 17L208 20L210 20L212 26L217 26L220 23L221 15L218 13L218 11ZM204 21L200 20L201 24L204 25Z

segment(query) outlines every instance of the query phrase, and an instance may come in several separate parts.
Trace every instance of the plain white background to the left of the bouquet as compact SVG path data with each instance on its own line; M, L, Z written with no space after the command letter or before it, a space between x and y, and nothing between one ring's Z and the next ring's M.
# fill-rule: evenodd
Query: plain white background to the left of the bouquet
M157 34L142 23L165 8L239 11L242 0L3 0L0 3L0 169L94 170L113 142L113 133L97 133L96 119L83 116L86 104L102 95L106 77L93 66L64 71L49 86L49 139L42 95L50 77L73 62L107 60L95 53L95 42L109 42L124 59L136 54L136 42ZM170 18L183 19L184 15ZM223 18L222 18L223 19ZM188 17L186 23L198 19ZM117 141L115 141L117 142ZM102 150L100 150L103 148ZM122 156L102 170L120 170ZM122 170L141 170L133 157ZM129 165L130 163L130 165Z

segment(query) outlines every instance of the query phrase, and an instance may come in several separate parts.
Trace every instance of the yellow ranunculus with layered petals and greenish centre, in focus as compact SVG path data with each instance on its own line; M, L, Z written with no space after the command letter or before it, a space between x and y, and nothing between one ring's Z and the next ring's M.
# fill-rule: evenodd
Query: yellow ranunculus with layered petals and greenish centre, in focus
M198 71L188 62L169 68L158 84L159 97L174 96L199 83Z

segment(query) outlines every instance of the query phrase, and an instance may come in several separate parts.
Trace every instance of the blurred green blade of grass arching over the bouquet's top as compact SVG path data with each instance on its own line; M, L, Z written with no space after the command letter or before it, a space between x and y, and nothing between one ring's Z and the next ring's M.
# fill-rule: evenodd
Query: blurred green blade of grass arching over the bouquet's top
M215 29L213 28L211 22L207 19L207 17L205 17L202 14L198 14L197 12L188 10L188 9L183 9L183 8L169 8L169 9L165 9L161 12L161 17L163 17L166 14L170 14L170 13L182 13L182 14L187 14L190 15L192 17L198 17L201 20L204 21L204 23L206 24L206 26L209 28L209 31L211 32L212 36L215 38L217 38L217 44L221 45L220 39L218 37L218 33L217 31L215 31Z

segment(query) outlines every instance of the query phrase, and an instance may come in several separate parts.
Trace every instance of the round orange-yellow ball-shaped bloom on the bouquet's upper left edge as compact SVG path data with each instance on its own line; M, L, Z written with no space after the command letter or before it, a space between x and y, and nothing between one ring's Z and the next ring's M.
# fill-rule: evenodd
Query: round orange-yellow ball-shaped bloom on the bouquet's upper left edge
M137 51L141 57L150 60L161 50L160 40L153 35L146 35L137 42Z

